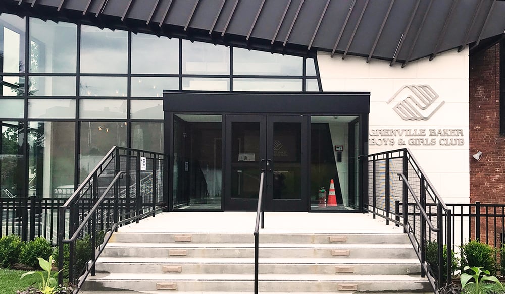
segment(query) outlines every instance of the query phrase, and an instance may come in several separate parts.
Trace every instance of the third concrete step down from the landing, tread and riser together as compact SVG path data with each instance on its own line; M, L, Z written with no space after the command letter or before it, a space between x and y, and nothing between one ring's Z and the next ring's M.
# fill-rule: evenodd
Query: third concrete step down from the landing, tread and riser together
M96 270L109 273L248 274L254 258L100 257ZM260 258L262 274L419 274L417 259Z

